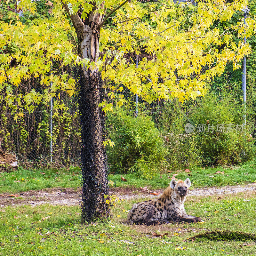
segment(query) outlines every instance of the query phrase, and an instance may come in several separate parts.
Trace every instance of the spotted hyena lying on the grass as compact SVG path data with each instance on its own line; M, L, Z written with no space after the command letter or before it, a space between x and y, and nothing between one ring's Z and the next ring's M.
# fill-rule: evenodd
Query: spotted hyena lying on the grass
M170 186L157 199L133 204L127 220L131 224L160 224L163 222L198 222L199 217L187 215L184 202L190 187L190 180L172 180Z

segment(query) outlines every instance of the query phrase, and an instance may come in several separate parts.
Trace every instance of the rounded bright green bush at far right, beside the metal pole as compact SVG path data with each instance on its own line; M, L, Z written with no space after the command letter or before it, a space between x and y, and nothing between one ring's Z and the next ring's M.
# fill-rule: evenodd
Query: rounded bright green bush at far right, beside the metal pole
M189 118L196 125L206 125L205 132L194 133L197 148L205 164L237 164L252 159L254 140L250 136L250 124L246 125L243 132L235 129L230 132L216 131L218 124L226 127L229 124L243 124L243 113L243 105L230 93L223 92L219 98L209 92L197 101ZM213 131L207 131L208 124L215 127Z

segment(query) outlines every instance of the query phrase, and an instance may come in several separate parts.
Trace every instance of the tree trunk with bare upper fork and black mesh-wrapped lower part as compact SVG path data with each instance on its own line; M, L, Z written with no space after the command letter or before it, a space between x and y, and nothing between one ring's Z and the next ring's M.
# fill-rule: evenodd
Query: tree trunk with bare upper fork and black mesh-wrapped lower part
M104 3L102 3L104 4ZM65 3L63 6L69 13ZM99 58L99 24L103 17L93 11L87 20L78 13L69 16L76 29L78 54L97 62ZM81 125L82 222L109 216L107 157L103 146L105 115L99 107L103 101L101 73L97 67L80 67L76 95Z

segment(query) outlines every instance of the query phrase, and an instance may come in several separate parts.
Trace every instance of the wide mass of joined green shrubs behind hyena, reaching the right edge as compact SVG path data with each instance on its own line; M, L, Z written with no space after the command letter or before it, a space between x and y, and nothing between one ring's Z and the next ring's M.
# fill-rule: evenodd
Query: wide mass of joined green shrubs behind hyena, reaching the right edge
M230 88L225 90L223 86L221 97L208 92L196 101L165 103L159 128L166 136L164 144L168 150L165 159L169 169L177 170L199 164L237 164L253 158L254 139L250 135L253 113L249 109L246 129L242 133L235 130L216 132L217 124L243 124L243 104L236 97L241 94L239 90L239 84L236 84L233 91ZM186 123L195 126L204 124L206 131L185 134ZM215 127L213 132L207 132L208 123Z

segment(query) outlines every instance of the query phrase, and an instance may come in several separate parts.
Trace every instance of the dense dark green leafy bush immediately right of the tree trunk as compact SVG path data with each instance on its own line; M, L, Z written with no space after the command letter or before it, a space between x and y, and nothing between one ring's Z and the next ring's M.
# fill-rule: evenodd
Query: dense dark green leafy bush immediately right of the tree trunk
M134 118L124 109L108 114L107 130L115 143L108 147L110 172L139 172L152 176L164 162L165 148L160 133L147 115Z

